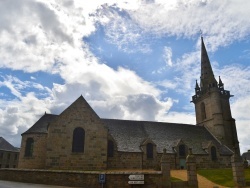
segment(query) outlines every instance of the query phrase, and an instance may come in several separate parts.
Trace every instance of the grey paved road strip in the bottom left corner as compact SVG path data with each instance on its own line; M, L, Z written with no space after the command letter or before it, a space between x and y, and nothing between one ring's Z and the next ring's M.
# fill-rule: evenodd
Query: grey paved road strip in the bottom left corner
M20 183L0 180L0 188L70 188L64 186L42 185L33 183Z

